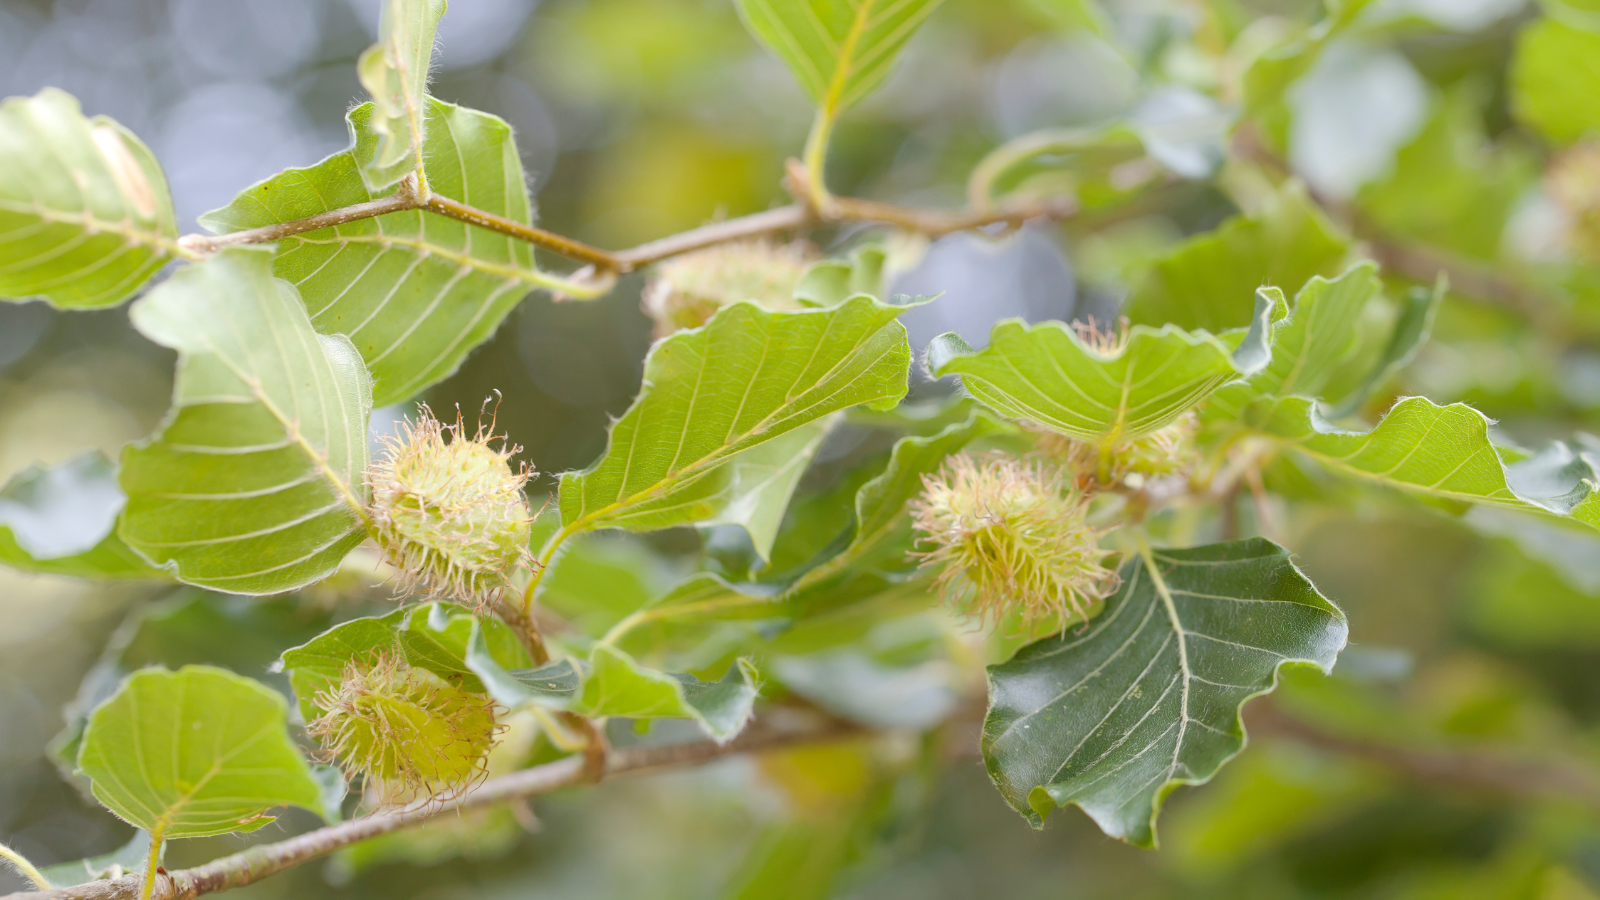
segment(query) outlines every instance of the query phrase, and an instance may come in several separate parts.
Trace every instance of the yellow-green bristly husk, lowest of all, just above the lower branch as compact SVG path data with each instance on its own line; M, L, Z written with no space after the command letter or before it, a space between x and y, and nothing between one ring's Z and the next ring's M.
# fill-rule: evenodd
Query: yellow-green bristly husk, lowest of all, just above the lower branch
M387 653L352 660L312 701L322 714L306 730L384 806L477 783L499 732L491 700Z

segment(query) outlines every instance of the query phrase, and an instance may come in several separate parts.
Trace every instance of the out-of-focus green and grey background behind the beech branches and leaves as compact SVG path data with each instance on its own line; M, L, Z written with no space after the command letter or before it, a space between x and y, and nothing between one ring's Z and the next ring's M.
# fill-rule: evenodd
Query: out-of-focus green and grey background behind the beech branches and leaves
M1600 14L1581 6L1560 8ZM1226 122L1250 59L1322 14L1314 0L947 0L890 83L845 117L830 186L958 205L971 165L1035 128L1152 98ZM1325 197L1558 282L1534 315L1451 295L1390 392L1469 400L1526 445L1600 431L1600 301L1584 291L1600 279L1544 181L1550 149L1515 125L1507 93L1517 34L1541 14L1520 0L1376 0L1269 122ZM344 144L342 112L362 98L354 59L374 27L365 0L0 0L0 93L56 85L123 122L166 167L194 231L237 189ZM811 117L730 0L454 0L435 62L437 96L515 127L541 224L603 247L786 202L782 165ZM909 317L912 343L949 328L978 338L1006 315L1115 315L1163 247L1238 211L1250 176L1226 167L1059 227L936 242L901 280L946 291ZM822 250L859 237L813 235ZM595 303L530 296L427 400L472 410L499 391L499 426L547 490L549 472L602 450L638 388L651 340L640 287L630 275ZM0 304L0 482L150 432L171 364L126 307ZM405 412L381 410L376 428ZM821 461L854 450L846 431ZM1600 540L1366 493L1266 512L1349 613L1352 649L1333 679L1296 677L1272 717L1246 716L1251 746L1211 786L1171 798L1158 852L1070 809L1032 831L989 785L976 732L946 729L574 791L235 895L1600 897ZM699 551L691 532L616 540L571 578L624 609ZM38 863L128 841L46 754L80 685L200 660L270 681L277 649L330 615L317 591L251 601L0 570L0 841ZM1296 716L1318 733L1283 724ZM1482 770L1451 767L1462 759ZM1533 764L1542 775L1494 780ZM293 814L261 834L307 825ZM237 846L182 842L168 865ZM19 887L0 873L0 890Z

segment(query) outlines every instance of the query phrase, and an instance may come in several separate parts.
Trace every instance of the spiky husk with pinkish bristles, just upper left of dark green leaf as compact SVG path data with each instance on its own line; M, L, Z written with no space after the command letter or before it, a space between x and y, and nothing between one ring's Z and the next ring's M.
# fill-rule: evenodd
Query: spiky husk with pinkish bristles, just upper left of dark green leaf
M1022 631L1093 615L1117 575L1090 527L1088 496L1056 468L1014 456L952 456L912 501L923 565L946 602Z

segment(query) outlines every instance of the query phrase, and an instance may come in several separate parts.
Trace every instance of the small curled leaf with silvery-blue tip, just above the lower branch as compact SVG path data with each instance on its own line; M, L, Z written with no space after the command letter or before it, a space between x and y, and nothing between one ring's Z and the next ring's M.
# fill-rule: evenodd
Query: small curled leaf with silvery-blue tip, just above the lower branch
M600 644L589 655L589 671L578 698L586 716L629 719L694 719L717 741L731 740L750 721L760 676L746 660L734 660L722 681L646 669L616 647Z

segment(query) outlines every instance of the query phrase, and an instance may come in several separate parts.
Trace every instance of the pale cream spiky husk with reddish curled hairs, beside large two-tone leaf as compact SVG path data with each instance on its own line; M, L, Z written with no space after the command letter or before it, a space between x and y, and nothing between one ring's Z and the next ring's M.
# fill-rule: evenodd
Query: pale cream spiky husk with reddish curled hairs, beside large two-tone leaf
M467 437L461 416L442 424L422 407L387 455L368 471L371 520L403 593L427 591L488 609L528 559L533 511L514 469L517 447L494 448L480 428Z

